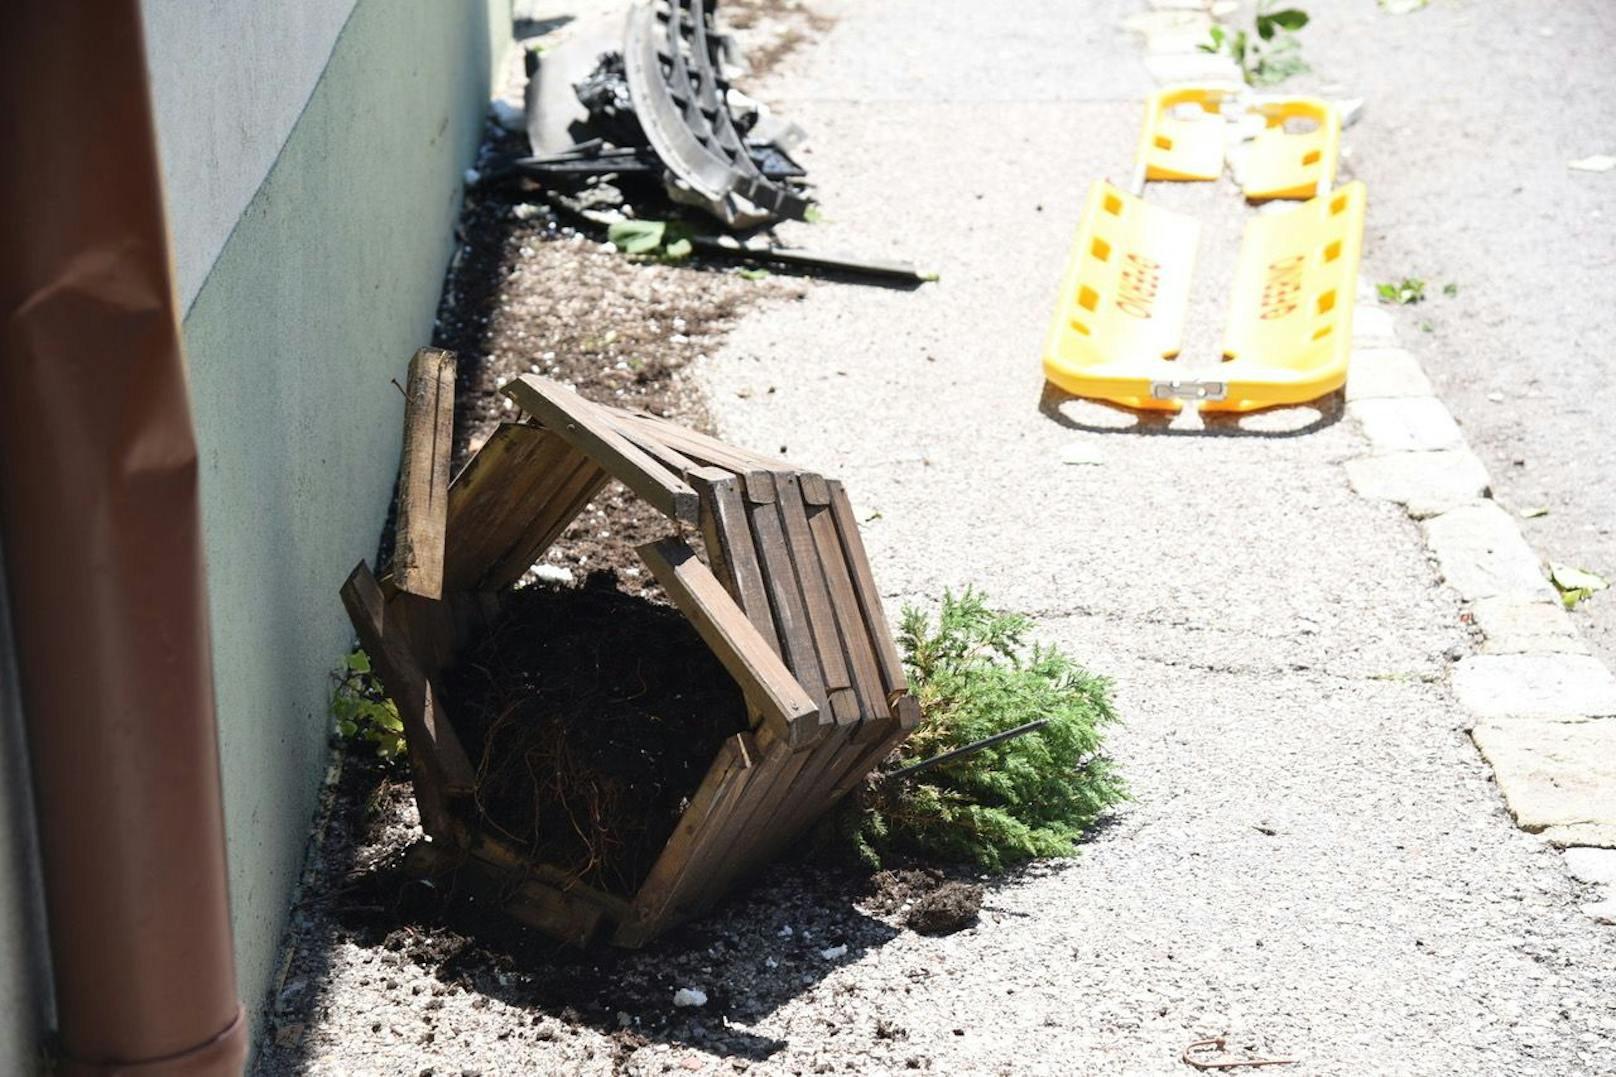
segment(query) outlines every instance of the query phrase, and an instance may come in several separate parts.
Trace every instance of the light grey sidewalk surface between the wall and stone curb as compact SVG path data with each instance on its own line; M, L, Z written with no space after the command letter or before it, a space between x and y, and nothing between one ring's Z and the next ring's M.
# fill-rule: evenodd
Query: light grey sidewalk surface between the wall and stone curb
M260 1072L1164 1074L1215 1037L1290 1074L1616 1072L1616 931L1504 813L1448 687L1454 595L1351 492L1340 406L1167 425L1042 395L1083 192L1130 170L1138 6L816 0L834 26L758 87L814 136L826 220L797 234L942 280L761 294L695 365L727 438L845 479L890 606L976 584L1112 676L1133 804L952 935L905 927L911 880L782 864L577 956L441 925L443 894L364 907L412 820L351 758ZM1356 168L1396 152L1354 134Z

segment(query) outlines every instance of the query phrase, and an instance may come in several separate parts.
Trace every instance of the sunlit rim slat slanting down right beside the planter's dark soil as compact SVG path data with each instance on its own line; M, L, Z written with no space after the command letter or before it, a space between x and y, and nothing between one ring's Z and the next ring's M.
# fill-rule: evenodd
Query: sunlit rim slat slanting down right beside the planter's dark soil
M763 720L776 726L776 736L793 745L806 745L818 736L819 708L695 551L679 538L663 538L640 547L638 553L747 699L763 712Z

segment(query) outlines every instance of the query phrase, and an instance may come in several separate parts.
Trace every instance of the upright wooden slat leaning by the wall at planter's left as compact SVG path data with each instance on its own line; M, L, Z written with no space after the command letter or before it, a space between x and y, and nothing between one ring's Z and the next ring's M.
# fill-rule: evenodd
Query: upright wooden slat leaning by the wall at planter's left
M393 579L399 590L443 597L449 519L449 443L454 438L454 353L420 348L404 390L404 461L394 527Z

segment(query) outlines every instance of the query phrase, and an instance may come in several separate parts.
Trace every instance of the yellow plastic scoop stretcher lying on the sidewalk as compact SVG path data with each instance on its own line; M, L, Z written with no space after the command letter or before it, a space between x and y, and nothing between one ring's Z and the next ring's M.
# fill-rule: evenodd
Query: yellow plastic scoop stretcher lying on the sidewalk
M1147 103L1134 186L1222 175L1227 100L1230 92L1218 87L1157 91ZM1044 340L1044 375L1052 383L1078 396L1173 411L1186 401L1206 411L1299 404L1345 385L1364 184L1330 189L1340 120L1327 102L1257 99L1248 107L1265 126L1246 158L1246 197L1307 201L1248 222L1223 364L1194 372L1176 364L1199 223L1097 181ZM1298 118L1311 120L1312 129L1288 131Z

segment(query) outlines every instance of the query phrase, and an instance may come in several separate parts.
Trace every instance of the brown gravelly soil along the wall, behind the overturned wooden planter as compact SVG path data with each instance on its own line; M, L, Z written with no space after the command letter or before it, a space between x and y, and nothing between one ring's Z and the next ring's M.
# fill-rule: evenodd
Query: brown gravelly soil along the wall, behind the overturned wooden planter
M525 152L525 137L496 131L483 158ZM454 469L517 409L499 388L540 374L582 396L643 408L713 432L685 367L716 349L740 312L771 298L802 298L802 280L747 280L729 262L637 262L590 225L551 209L532 183L472 188L456 231L433 344L459 359ZM548 561L583 576L617 571L619 589L658 593L637 545L671 530L661 513L621 484L579 514Z

